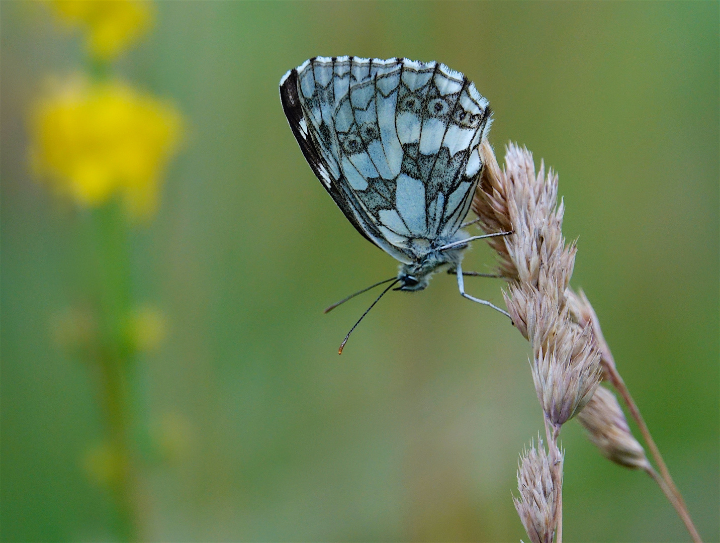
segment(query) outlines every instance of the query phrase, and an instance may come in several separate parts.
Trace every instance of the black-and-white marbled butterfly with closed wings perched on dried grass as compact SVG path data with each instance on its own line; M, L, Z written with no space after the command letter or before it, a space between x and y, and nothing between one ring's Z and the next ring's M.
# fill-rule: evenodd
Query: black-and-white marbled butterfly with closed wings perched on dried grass
M462 221L482 174L480 143L492 112L460 72L408 58L315 57L285 73L280 99L310 168L368 241L400 261L395 290L418 291L446 269L465 292L462 253L475 239ZM490 276L495 277L495 276ZM510 315L508 315L509 317Z

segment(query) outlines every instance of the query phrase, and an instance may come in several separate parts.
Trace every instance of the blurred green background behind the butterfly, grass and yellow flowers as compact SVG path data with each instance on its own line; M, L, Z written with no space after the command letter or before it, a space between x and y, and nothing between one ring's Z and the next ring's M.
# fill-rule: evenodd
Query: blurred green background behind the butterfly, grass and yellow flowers
M168 318L142 360L150 421L183 453L143 470L144 537L173 541L518 541L518 452L541 428L528 344L450 277L330 302L395 273L312 176L277 84L314 55L407 56L464 72L512 139L559 171L572 284L608 342L706 541L719 522L719 4L159 3L120 60L189 133L135 291ZM45 6L1 5L3 541L112 539L83 458L94 375L53 345L83 271L73 215L30 174L27 114L81 43ZM467 269L492 253L477 245ZM469 292L500 301L500 285ZM681 541L651 480L573 421L569 541Z

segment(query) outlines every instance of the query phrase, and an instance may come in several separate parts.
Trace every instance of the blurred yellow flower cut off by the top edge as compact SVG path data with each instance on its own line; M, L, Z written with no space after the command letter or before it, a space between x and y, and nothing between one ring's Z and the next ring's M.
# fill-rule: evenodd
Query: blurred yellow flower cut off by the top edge
M137 40L150 26L150 4L137 0L53 0L61 19L86 30L87 47L110 59Z

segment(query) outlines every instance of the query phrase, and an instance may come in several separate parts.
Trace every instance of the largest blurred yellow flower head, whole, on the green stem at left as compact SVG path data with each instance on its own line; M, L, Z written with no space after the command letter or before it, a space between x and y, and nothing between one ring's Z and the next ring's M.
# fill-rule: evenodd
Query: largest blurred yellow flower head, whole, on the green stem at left
M181 117L124 84L73 81L37 104L31 128L37 174L79 205L120 194L130 214L140 216L156 209Z

